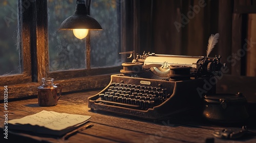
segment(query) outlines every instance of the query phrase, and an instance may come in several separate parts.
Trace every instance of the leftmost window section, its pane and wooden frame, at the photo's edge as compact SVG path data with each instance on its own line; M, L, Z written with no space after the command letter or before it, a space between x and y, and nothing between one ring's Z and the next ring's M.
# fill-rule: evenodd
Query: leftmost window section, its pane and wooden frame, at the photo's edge
M30 56L30 27L31 22L22 15L31 13L28 3L22 1L1 1L1 58L0 85L24 84L32 80ZM28 19L28 18L27 18ZM26 30L25 30L26 29ZM0 90L2 91L2 87ZM24 88L27 90L28 88ZM19 87L17 88L19 90ZM29 90L28 90L29 92ZM10 91L15 93L15 91ZM28 93L30 94L30 93ZM2 98L1 98L2 99Z

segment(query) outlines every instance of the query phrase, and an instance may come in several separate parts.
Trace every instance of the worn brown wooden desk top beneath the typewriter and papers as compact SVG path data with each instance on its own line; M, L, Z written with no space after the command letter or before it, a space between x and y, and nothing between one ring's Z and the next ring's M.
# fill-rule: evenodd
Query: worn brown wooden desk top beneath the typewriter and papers
M66 140L67 142L256 142L256 136L247 133L238 140L219 139L212 135L214 130L225 127L206 123L198 115L183 117L166 117L159 121L144 120L133 116L125 116L103 111L91 111L88 108L88 97L99 90L70 93L61 96L57 106L40 107L37 99L13 101L8 103L8 120L31 115L42 110L65 112L71 114L90 115L93 127L78 132ZM4 104L0 104L4 114ZM200 115L199 115L200 116ZM1 139L3 136L4 116L0 116ZM255 120L254 120L255 122ZM240 126L239 126L240 127ZM250 128L249 128L250 129ZM254 129L250 129L255 132ZM61 139L45 136L28 135L22 132L11 134L4 142L61 142ZM1 141L1 142L3 142Z

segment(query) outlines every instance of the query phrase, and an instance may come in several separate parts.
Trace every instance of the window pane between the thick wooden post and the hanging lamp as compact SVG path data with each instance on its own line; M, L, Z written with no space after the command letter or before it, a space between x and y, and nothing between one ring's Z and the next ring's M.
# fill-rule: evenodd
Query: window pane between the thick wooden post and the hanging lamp
M76 1L48 0L50 71L86 68L85 39L77 39L72 31L58 30L62 21L73 15Z

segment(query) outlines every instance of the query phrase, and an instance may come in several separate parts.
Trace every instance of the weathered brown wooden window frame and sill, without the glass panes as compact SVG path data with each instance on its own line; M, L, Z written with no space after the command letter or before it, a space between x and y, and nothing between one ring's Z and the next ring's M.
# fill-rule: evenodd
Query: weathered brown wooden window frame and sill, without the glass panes
M52 77L55 83L62 86L62 92L88 90L102 88L109 84L110 76L120 72L122 66L90 68L90 32L86 41L87 69L49 71L48 55L48 14L47 0L31 1L28 8L22 6L22 0L18 1L19 18L22 41L22 74L0 77L0 92L4 93L4 86L8 86L8 99L16 100L37 95L37 87L41 85L41 78ZM30 1L29 1L30 2ZM122 11L133 11L129 6L133 2L120 3L121 11L121 51L133 50L127 48L130 44L125 42L128 38L133 38L134 34L127 34L126 31L133 26L131 22L126 24L127 14ZM129 5L127 5L129 3ZM128 6L128 7L127 7ZM128 15L129 17L131 15ZM129 18L128 17L128 18ZM128 27L128 28L127 28ZM127 46L128 45L128 46ZM124 59L124 56L122 56ZM3 102L4 96L0 97Z

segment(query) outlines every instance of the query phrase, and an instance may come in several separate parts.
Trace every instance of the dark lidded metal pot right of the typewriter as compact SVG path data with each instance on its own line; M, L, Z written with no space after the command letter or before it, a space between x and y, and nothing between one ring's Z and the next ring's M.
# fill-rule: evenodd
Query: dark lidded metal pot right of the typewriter
M238 94L210 94L204 96L203 116L213 122L239 123L245 121L247 100Z

